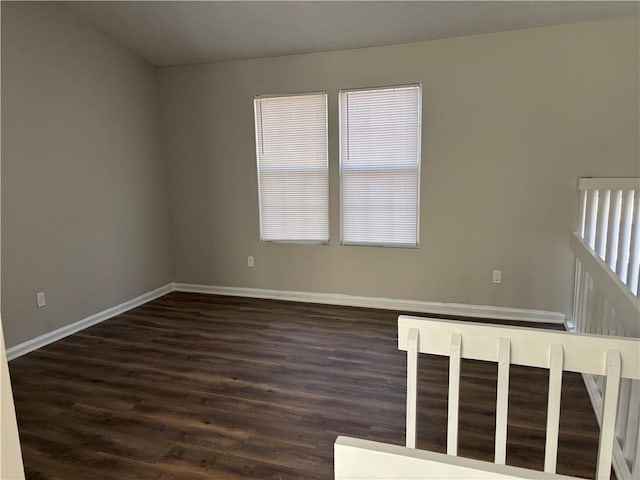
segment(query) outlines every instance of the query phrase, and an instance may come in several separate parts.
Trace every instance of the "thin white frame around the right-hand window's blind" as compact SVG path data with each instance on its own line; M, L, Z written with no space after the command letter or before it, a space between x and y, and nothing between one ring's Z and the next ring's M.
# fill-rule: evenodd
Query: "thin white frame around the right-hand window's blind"
M416 169L416 243L390 243L390 242L345 242L344 240L344 198L343 198L343 149L345 139L342 132L342 95L346 92L359 92L367 90L393 90L397 88L417 87L418 89L418 142L417 142L417 169ZM422 183L422 84L406 83L394 85L382 85L372 87L341 88L338 90L338 150L339 150L339 182L340 182L340 245L345 247L385 247L385 248L420 248L420 190ZM372 171L372 170L369 170Z

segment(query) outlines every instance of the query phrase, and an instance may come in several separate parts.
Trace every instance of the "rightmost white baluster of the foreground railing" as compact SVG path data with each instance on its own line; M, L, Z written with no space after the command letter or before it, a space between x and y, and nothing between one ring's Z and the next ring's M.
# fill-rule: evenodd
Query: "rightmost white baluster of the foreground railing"
M616 426L616 408L618 406L618 390L620 387L620 352L617 350L607 350L606 362L607 384L602 408L596 480L609 480L609 477L611 476L611 459L613 457L613 441L615 439Z

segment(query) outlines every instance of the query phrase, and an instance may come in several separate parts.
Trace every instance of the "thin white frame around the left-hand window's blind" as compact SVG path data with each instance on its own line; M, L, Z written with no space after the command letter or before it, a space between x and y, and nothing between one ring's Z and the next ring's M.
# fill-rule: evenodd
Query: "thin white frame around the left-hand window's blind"
M260 188L260 145L258 142L258 100L268 98L288 98L299 96L311 96L311 95L324 95L325 106L325 150L327 152L325 160L325 171L327 174L327 239L326 240L292 240L292 239L264 239L262 228L262 190ZM257 192L258 192L258 241L260 243L272 243L272 244L292 244L292 245L328 245L331 240L331 189L330 189L330 172L329 172L329 94L326 90L318 90L312 92L296 92L296 93L274 93L274 94L262 94L255 95L253 97L253 122L254 122L254 139L255 139L255 152L256 152L256 180L257 180ZM262 128L262 119L260 119L260 127Z

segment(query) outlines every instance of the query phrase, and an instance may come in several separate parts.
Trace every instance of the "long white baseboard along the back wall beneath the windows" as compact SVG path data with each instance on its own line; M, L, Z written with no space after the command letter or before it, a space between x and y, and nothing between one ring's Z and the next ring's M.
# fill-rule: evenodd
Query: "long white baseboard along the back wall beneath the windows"
M230 295L234 297L268 298L292 302L322 303L348 307L377 308L401 312L460 315L464 317L493 318L497 320L515 320L524 322L562 324L565 316L560 312L526 310L520 308L492 307L487 305L466 305L459 303L422 302L418 300L400 300L394 298L361 297L340 293L296 292L287 290L266 290L262 288L220 287L215 285L196 285L176 283L178 292L207 293L211 295Z

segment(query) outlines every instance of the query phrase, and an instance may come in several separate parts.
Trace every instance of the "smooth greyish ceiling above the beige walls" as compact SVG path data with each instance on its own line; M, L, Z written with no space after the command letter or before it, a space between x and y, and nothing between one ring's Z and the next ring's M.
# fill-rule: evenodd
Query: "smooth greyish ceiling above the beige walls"
M638 17L639 2L62 2L159 66L343 50Z

